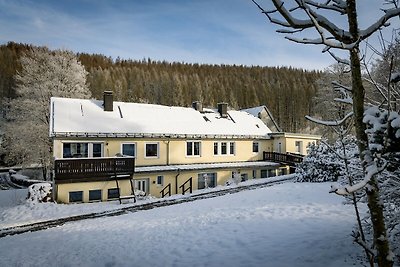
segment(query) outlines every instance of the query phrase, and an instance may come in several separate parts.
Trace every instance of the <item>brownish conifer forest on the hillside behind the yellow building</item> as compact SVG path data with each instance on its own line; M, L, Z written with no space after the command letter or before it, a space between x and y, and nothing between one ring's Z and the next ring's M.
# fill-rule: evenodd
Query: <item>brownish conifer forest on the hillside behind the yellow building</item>
M15 74L20 57L33 46L9 42L0 46L1 113L15 95ZM232 109L266 105L287 132L310 133L313 125L304 116L315 114L313 97L322 73L291 67L199 65L151 59L125 60L100 54L77 55L95 99L112 90L118 101L171 106L205 107L228 103ZM284 64L284 62L283 62Z

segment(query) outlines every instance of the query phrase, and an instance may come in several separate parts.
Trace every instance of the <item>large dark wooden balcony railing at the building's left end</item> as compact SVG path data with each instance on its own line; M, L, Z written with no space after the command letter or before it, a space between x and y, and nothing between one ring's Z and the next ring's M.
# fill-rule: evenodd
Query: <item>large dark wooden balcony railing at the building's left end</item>
M121 175L133 175L135 158L81 158L58 159L54 163L55 181L96 178L115 178Z

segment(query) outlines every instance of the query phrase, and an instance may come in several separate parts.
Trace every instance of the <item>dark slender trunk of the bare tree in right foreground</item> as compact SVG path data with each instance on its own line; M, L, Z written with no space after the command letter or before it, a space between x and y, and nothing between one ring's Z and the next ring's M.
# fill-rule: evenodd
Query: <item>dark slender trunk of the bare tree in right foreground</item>
M349 30L352 35L352 41L358 40L358 23L356 0L347 0L347 15L349 21ZM365 90L362 83L361 64L359 58L359 46L356 45L350 50L352 93L353 93L353 111L354 126L356 129L357 144L360 152L360 159L365 173L366 157L368 153L368 136L365 133L366 126L363 123L364 116L364 97ZM372 227L374 230L374 244L377 251L377 261L380 267L391 267L393 261L388 257L390 254L389 241L386 236L385 217L383 214L383 205L379 201L379 186L376 177L373 176L369 181L367 189L368 208L371 213Z

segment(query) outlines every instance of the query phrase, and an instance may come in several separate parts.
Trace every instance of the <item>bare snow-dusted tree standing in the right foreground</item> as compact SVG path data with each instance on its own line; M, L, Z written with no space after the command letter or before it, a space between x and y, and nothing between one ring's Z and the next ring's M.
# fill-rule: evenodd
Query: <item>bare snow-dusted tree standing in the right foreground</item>
M351 66L351 94L353 102L353 116L357 145L364 170L363 181L337 190L338 194L351 194L362 188L366 189L368 207L371 213L371 221L374 232L374 244L376 245L377 261L379 266L392 266L393 253L389 248L386 226L383 214L383 205L379 201L379 185L376 174L379 171L373 156L368 149L368 136L365 132L366 125L363 122L365 88L361 72L360 44L383 27L389 26L389 20L400 15L397 1L384 1L392 4L389 8L382 9L382 16L365 29L359 28L356 0L292 0L283 2L271 0L271 10L264 9L255 0L252 2L267 16L269 21L284 29L278 30L284 33L286 39L301 44L314 44L324 46L323 52L330 53L335 59ZM329 17L339 15L345 18L347 29L342 29ZM299 38L298 34L313 31L316 38ZM334 50L347 51L350 60L342 60L335 55Z

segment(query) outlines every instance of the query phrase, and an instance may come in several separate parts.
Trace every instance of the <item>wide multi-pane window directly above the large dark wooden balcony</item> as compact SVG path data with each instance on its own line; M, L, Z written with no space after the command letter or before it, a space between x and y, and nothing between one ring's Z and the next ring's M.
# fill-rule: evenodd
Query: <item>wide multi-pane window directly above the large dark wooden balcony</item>
M99 158L103 150L103 143L63 143L63 158Z

